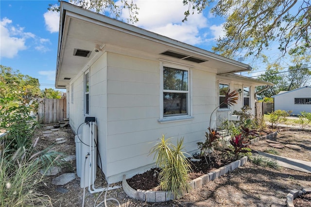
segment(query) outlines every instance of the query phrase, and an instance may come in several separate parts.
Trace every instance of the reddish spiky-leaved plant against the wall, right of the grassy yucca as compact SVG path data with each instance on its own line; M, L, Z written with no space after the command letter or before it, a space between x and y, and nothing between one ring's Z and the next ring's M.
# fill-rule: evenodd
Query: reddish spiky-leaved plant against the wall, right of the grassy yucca
M213 145L215 145L215 143L219 140L219 138L221 138L221 136L216 130L208 127L208 132L205 132L205 138L205 142L197 142L197 145L200 149L200 154L204 155L206 161L206 154L208 154L208 159L210 161L210 153L212 151Z

